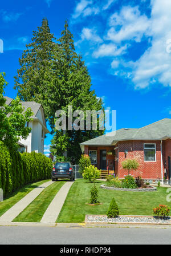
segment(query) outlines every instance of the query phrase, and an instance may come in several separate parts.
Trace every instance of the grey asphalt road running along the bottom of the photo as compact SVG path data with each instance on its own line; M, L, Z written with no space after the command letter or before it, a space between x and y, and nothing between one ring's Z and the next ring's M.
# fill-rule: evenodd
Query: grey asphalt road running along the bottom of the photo
M170 245L171 227L0 227L0 245L52 244Z

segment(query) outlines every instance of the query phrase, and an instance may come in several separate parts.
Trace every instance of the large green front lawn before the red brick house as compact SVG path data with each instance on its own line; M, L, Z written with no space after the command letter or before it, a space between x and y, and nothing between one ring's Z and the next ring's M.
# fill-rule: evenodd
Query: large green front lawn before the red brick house
M86 203L89 202L93 184L84 179L76 180L68 192L56 222L84 222L86 214L106 214L113 197L121 215L152 215L153 208L158 204L166 204L171 209L171 202L166 202L168 193L165 187L157 187L155 192L129 192L103 190L100 188L101 184L105 182L99 180L96 182L99 188L99 200L103 204L89 206Z

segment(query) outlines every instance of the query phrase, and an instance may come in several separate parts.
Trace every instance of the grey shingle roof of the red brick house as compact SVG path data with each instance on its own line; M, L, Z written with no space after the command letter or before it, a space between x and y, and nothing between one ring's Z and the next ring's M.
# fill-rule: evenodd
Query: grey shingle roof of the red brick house
M171 119L165 118L139 129L119 129L80 145L114 145L121 140L161 140L171 137Z

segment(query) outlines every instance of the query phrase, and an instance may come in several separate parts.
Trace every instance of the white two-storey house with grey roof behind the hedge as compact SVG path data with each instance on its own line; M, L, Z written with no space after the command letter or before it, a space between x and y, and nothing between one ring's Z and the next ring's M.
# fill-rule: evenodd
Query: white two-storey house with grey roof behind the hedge
M13 99L5 97L6 104L10 105ZM34 113L31 117L33 121L30 121L26 125L31 128L26 140L20 139L18 144L20 145L20 152L32 152L43 153L44 152L44 135L49 133L46 127L46 120L44 118L44 110L42 105L35 103L34 101L21 101L25 111L27 108L31 108Z

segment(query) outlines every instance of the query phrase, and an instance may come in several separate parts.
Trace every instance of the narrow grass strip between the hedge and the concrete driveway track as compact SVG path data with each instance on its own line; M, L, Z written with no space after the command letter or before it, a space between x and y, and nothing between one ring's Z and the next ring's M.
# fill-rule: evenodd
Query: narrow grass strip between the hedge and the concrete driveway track
M26 186L19 188L15 192L11 193L7 196L3 202L0 202L0 216L4 214L9 208L14 206L19 200L21 200L24 196L26 196L31 190L38 187L39 185L48 182L48 180L40 180L39 182L27 184Z

